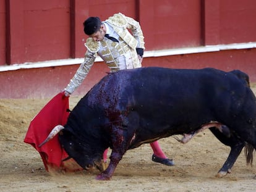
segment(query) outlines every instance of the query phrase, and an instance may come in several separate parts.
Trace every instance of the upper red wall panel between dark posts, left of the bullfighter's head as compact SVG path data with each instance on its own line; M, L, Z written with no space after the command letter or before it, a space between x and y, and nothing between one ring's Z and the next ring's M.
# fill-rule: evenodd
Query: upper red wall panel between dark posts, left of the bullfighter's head
M7 9L7 64L69 57L69 0L12 0Z

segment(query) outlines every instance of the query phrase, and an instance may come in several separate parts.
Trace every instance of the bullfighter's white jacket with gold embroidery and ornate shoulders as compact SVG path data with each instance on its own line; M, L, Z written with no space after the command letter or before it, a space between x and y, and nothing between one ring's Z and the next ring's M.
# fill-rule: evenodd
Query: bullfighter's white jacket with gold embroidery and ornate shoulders
M111 41L108 38L104 38L102 41L94 41L93 38L88 38L85 43L85 47L87 48L85 59L82 64L80 64L74 77L70 80L69 85L64 89L68 93L74 93L75 89L82 83L85 77L87 77L97 54L105 61L111 72L120 70L120 63L117 59L119 56L129 56L129 58L132 59L132 66L129 68L141 67L136 49L145 49L145 46L139 22L121 13L114 14L105 22L119 35L119 42Z

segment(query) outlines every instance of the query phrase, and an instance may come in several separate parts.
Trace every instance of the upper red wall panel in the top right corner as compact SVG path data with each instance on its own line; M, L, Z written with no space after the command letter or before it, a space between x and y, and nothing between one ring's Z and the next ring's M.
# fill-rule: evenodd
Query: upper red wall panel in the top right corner
M256 41L256 1L220 1L220 44Z

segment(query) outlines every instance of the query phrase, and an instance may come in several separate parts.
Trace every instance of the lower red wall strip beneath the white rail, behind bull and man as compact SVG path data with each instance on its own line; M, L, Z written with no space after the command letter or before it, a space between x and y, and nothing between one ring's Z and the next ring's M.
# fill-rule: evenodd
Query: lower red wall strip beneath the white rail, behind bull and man
M227 50L197 54L179 54L165 57L145 57L143 66L160 66L179 69L215 67L224 71L243 70L256 82L256 49ZM52 98L63 90L79 65L21 69L0 75L0 98ZM96 62L82 85L72 96L82 96L92 88L109 69L103 62ZM2 83L3 82L3 83Z

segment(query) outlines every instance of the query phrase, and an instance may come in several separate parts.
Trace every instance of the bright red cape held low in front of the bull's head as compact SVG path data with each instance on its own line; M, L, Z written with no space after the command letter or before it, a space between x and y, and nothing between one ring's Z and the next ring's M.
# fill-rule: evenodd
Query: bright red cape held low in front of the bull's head
M66 124L67 117L69 117L67 109L69 109L69 98L64 93L54 96L32 119L24 139L25 143L32 144L36 151L40 153L47 171L49 169L69 171L81 169L73 159L62 162L62 159L65 159L68 155L61 147L58 135L54 136L52 140L41 146L41 148L38 148L38 145L46 139L56 125Z

